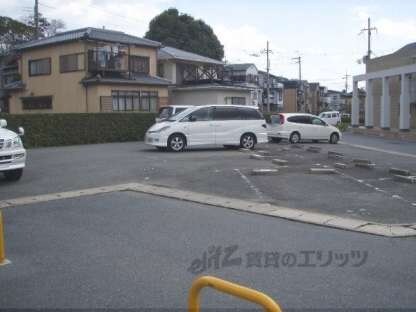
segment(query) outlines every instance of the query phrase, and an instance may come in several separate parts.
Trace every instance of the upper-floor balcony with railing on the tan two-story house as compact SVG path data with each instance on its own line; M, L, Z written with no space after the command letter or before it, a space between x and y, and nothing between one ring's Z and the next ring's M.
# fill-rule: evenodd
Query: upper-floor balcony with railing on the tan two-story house
M89 72L126 72L128 70L128 56L103 50L88 51Z

